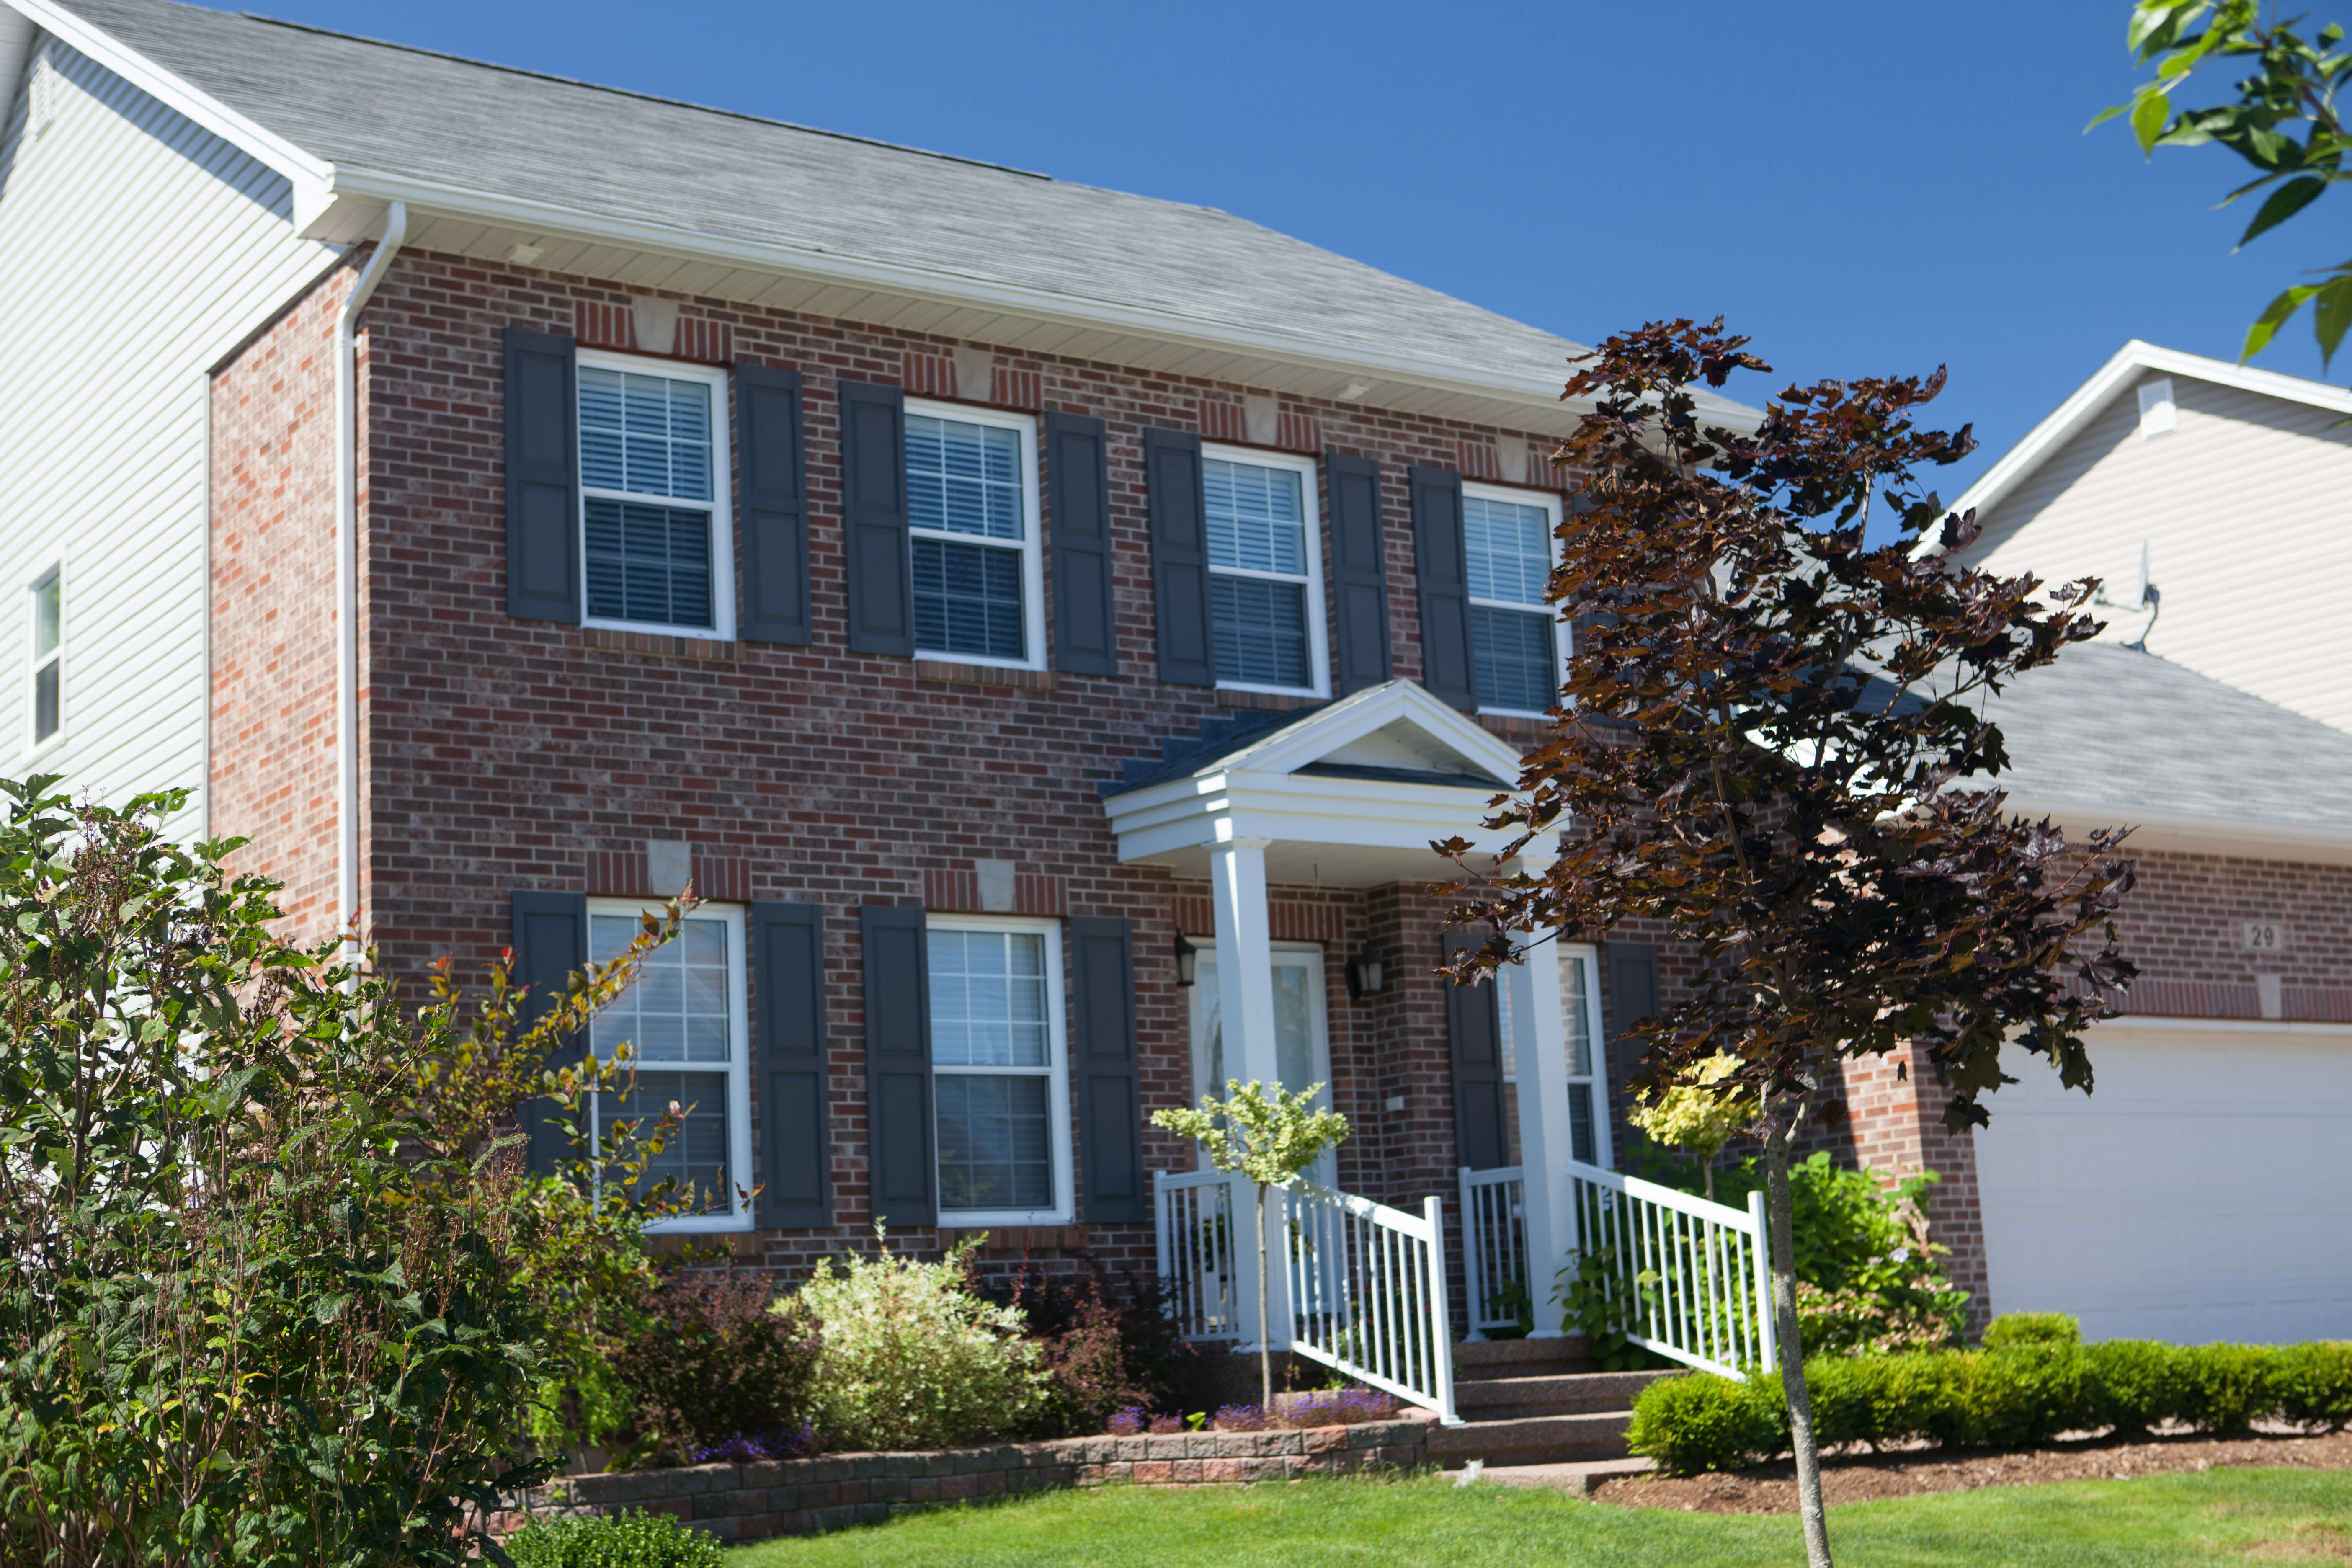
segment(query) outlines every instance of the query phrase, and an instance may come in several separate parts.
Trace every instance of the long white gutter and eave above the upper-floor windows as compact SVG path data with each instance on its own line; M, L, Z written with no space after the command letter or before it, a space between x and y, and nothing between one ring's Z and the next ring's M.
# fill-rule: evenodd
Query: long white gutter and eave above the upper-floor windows
M16 0L7 2L14 5ZM659 256L724 261L755 273L807 277L884 294L906 294L913 299L936 299L983 310L1002 310L1030 320L1129 331L1176 343L1200 343L1204 348L1249 353L1265 360L1279 360L1284 364L1301 364L1336 374L1369 371L1388 381L1404 381L1411 386L1465 393L1475 397L1496 397L1501 402L1517 402L1531 409L1557 411L1562 407L1559 378L1555 376L1510 376L1454 360L1381 353L1374 348L1331 343L1289 331L1240 327L1235 322L1221 322L1216 317L1192 315L1185 310L1148 310L1141 306L1084 299L1080 294L1030 289L993 277L971 277L938 268L915 268L896 261L844 256L816 247L729 240L724 235L708 235L694 228L647 223L640 219L614 219L581 212L576 207L560 207L555 202L466 190L461 186L421 181L405 174L336 167L332 186L336 205L343 200L374 207L386 202L407 202L414 214L456 216L496 228L520 228L595 244L630 247ZM315 226L325 230L332 223L332 216L334 214L322 212ZM1752 428L1755 416L1722 414L1722 423Z

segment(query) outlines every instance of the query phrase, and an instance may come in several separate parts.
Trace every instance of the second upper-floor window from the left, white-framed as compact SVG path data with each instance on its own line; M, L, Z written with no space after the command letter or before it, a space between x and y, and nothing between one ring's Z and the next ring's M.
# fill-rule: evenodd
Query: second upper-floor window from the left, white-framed
M1037 423L908 400L906 524L915 656L1042 670Z

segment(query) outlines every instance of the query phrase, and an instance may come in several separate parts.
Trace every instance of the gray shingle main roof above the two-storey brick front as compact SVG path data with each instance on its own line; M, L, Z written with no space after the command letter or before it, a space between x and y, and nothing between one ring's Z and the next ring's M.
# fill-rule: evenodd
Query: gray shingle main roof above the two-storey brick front
M1583 353L1207 207L172 0L61 2L346 169L1484 371L1564 378Z

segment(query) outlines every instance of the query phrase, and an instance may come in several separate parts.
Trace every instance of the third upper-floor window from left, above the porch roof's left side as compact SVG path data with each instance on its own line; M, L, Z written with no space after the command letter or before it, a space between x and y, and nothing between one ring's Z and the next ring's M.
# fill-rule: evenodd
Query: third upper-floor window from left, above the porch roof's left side
M1329 691L1315 458L1202 447L1216 684Z

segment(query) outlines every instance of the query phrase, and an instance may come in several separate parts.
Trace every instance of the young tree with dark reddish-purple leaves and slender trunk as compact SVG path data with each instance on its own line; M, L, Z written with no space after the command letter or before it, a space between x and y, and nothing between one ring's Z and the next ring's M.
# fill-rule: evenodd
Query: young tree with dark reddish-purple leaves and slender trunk
M1550 599L1578 625L1552 731L1496 797L1489 827L1538 837L1541 875L1456 886L1486 924L1454 961L1475 980L1515 959L1510 931L1599 936L1656 922L1698 973L1635 1030L1637 1086L1689 1081L1757 1100L1806 1552L1830 1561L1804 1356L1790 1154L1851 1058L1919 1048L1950 1084L1945 1121L1987 1119L2002 1048L2091 1088L2082 1032L2131 980L2114 910L2119 832L2072 851L2004 809L2009 755L1983 698L2096 635L2096 583L2044 595L1950 555L1976 536L1915 470L1969 430L1912 428L1929 378L1820 381L1766 404L1755 435L1700 428L1691 386L1769 371L1748 339L1651 322L1581 360L1592 400L1557 461L1581 475ZM1870 548L1877 496L1898 538ZM1463 839L1442 844L1461 860ZM1900 1070L1898 1070L1900 1072Z

